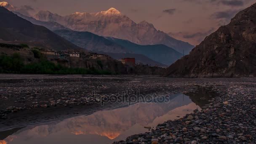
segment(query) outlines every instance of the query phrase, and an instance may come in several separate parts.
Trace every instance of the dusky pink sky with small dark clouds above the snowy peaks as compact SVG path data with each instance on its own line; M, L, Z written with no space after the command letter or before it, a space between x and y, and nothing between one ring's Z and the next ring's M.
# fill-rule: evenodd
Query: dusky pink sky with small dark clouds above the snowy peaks
M256 0L5 0L23 13L48 10L61 16L116 8L134 22L148 21L156 29L198 45L235 14Z

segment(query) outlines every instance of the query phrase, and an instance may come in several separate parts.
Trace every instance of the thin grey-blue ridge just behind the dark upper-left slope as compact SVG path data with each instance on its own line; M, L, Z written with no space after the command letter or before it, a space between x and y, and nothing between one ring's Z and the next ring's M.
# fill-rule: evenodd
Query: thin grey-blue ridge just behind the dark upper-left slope
M12 11L14 14L18 15L19 17L23 18L23 19L26 19L30 22L32 22L32 24L36 24L36 25L40 25L40 26L43 26L43 27L46 27L47 29L50 29L51 31L53 30L59 30L59 29L68 29L64 26L62 26L61 24L58 24L56 22L51 22L51 21L38 21L32 17L29 17L29 16L25 16L19 12L16 12L16 11Z

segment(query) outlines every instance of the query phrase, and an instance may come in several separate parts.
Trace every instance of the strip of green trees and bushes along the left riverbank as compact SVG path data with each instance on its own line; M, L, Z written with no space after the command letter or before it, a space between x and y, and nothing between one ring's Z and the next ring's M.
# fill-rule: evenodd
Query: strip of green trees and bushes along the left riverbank
M0 55L0 73L21 73L21 74L81 74L81 75L110 75L107 70L98 70L95 68L67 68L60 64L54 64L42 58L40 51L32 50L36 58L40 58L40 62L32 62L24 64L19 53L13 56L5 54Z

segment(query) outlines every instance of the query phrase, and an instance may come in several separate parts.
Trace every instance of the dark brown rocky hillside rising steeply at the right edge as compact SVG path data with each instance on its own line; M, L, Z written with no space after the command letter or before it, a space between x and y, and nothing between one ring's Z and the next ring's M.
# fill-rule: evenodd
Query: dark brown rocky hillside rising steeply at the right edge
M205 38L172 64L166 77L256 76L256 4Z

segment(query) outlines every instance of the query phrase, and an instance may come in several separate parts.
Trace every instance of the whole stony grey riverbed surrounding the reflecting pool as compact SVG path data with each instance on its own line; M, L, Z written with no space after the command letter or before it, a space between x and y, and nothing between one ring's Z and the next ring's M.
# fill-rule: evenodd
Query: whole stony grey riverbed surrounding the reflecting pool
M126 144L254 143L256 79L184 79L162 77L88 77L80 75L0 75L0 129L60 120L120 104L97 104L123 92L129 95L193 93L200 88L219 93L202 111L167 120L148 133L130 136ZM92 91L97 94L88 99ZM111 96L112 95L112 96ZM98 99L100 100L100 99ZM134 133L136 134L136 133Z

